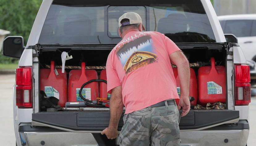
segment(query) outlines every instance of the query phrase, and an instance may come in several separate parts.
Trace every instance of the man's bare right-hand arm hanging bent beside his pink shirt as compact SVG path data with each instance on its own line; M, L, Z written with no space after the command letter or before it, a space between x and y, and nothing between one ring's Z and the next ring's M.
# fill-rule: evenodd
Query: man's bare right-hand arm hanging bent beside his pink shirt
M180 79L181 86L181 96L179 109L182 107L181 117L187 115L190 110L189 101L189 80L190 80L190 70L189 62L186 56L181 51L173 52L169 55L170 60L177 66L178 75Z

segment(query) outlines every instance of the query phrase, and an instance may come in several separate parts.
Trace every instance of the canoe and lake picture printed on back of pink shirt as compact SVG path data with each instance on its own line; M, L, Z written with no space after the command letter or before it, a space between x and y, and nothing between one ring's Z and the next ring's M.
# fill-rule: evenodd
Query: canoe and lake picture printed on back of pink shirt
M126 74L140 67L158 62L150 35L138 37L123 44L116 52Z

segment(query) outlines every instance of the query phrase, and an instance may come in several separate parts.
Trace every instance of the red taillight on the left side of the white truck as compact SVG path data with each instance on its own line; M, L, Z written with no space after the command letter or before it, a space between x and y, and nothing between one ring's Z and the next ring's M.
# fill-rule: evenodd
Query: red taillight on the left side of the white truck
M18 108L32 108L32 67L16 69L16 105Z

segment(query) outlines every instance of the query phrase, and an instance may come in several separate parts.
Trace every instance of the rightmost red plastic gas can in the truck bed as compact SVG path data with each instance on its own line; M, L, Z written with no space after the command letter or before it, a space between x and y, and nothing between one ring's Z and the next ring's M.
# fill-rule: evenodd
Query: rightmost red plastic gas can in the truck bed
M211 66L198 69L198 104L205 106L208 102L226 103L226 74L224 66L215 66L211 58Z

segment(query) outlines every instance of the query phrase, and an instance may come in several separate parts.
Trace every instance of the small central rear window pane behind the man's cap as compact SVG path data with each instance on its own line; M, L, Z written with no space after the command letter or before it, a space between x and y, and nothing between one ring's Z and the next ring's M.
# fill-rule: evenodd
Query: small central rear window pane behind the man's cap
M118 19L126 12L138 13L146 28L146 8L144 6L109 6L108 7L108 36L119 37Z

